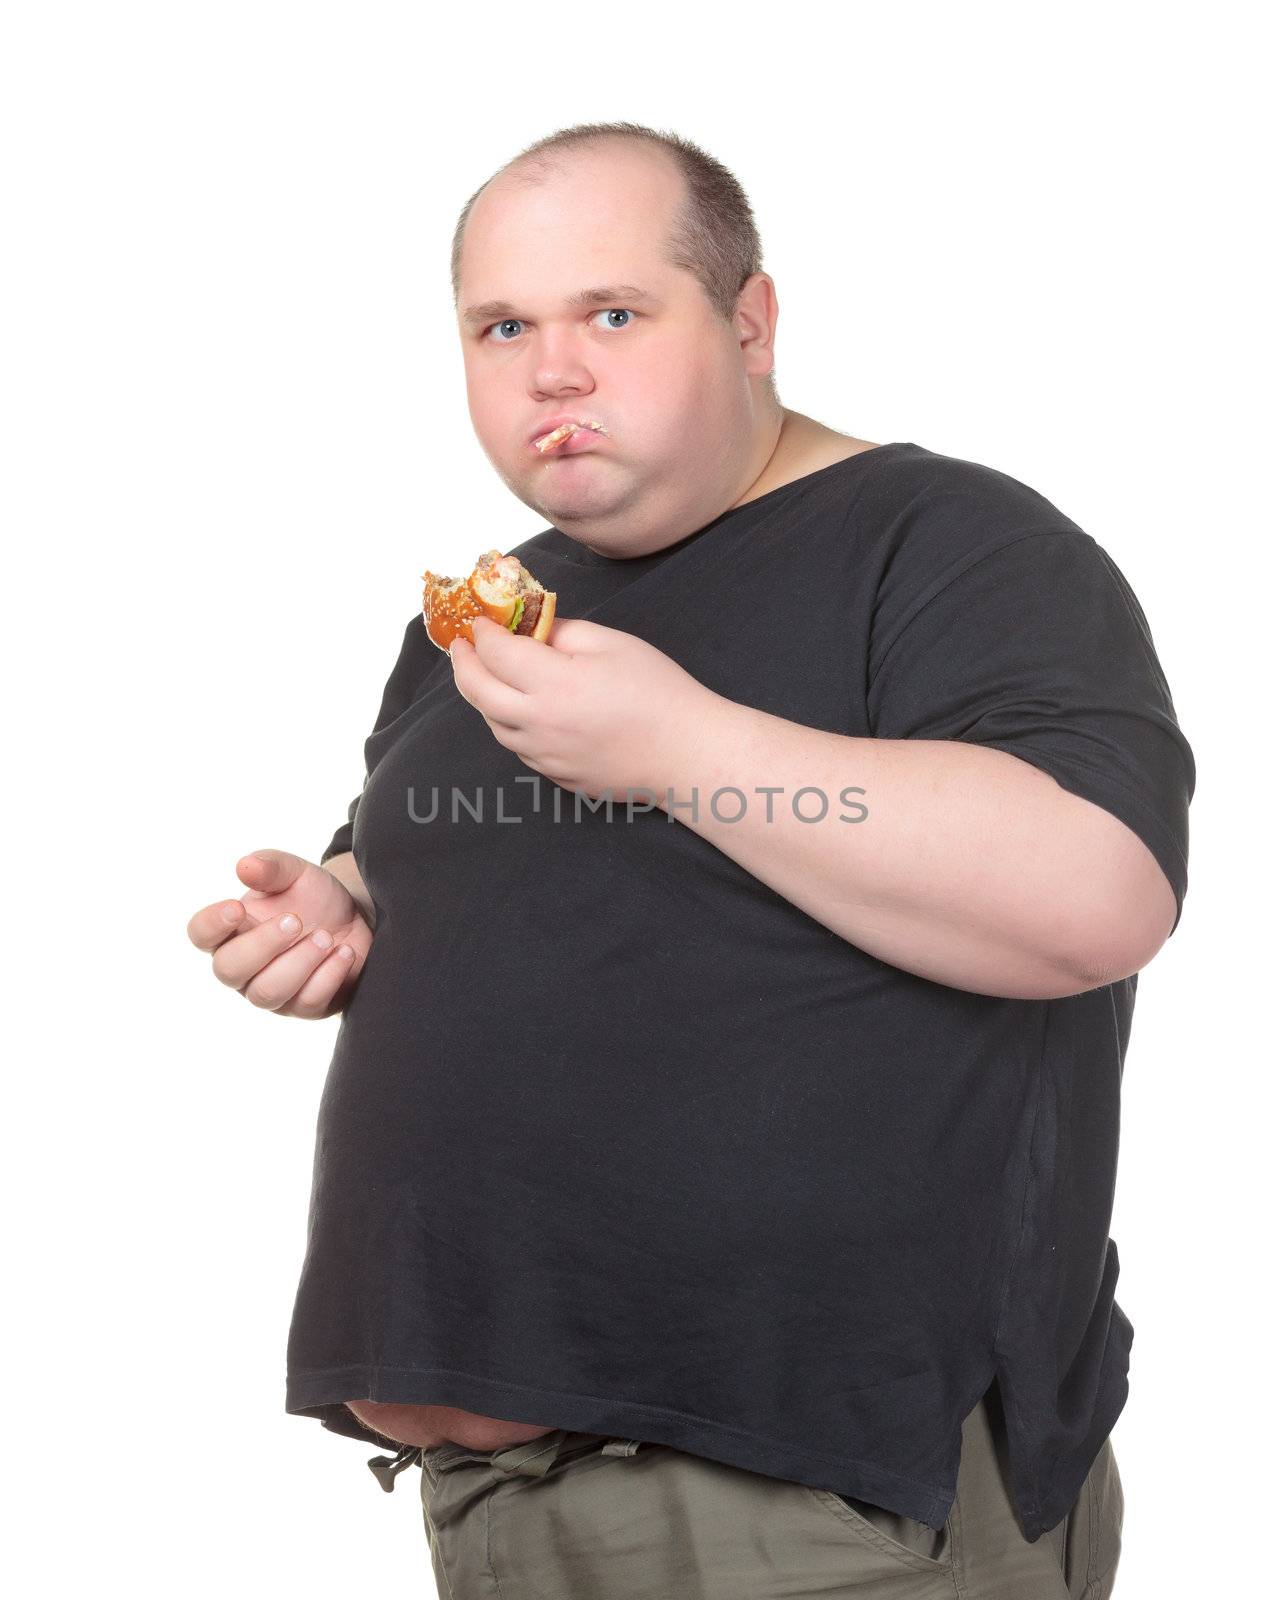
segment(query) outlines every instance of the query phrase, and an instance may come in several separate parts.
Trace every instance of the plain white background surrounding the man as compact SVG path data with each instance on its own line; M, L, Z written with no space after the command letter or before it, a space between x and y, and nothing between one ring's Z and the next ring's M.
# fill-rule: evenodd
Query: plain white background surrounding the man
M1249 11L3 16L18 1592L432 1594L418 1469L389 1499L373 1446L283 1413L336 1022L255 1010L184 928L242 854L315 858L344 819L424 565L543 526L471 432L450 234L524 144L612 118L746 186L786 405L1033 485L1151 622L1198 794L1124 1083L1116 1600L1239 1592L1265 1437Z

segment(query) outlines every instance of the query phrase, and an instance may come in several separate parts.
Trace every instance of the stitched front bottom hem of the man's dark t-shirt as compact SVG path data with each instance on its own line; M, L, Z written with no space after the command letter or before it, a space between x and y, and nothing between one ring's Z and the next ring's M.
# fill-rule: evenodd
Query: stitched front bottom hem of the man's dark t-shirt
M608 1395L533 1389L437 1366L330 1366L293 1371L287 1378L285 1410L295 1416L320 1418L335 1432L351 1432L328 1414L331 1406L346 1411L343 1402L347 1397L395 1405L447 1405L568 1432L669 1445L746 1472L865 1499L930 1528L945 1525L954 1502L954 1488L937 1488L869 1461L805 1450L712 1418ZM351 1411L347 1416L355 1422ZM381 1435L368 1430L365 1437L381 1442Z

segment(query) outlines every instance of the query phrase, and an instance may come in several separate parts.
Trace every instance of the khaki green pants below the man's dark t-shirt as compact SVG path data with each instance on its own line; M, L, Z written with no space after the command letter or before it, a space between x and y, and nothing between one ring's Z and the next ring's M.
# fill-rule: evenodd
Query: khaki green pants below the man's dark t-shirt
M1106 1438L1069 1515L1017 1523L994 1386L965 1418L943 1528L669 1445L556 1429L506 1450L421 1456L440 1600L1108 1600L1122 1485Z

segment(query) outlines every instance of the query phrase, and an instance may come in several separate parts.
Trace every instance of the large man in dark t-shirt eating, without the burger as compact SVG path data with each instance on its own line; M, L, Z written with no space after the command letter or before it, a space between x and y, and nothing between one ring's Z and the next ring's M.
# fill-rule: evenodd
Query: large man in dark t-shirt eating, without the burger
M445 1600L1103 1600L1194 787L1140 603L1017 478L780 403L690 139L540 139L451 266L552 632L410 618L320 861L189 923L339 1016L287 1410L419 1466Z

